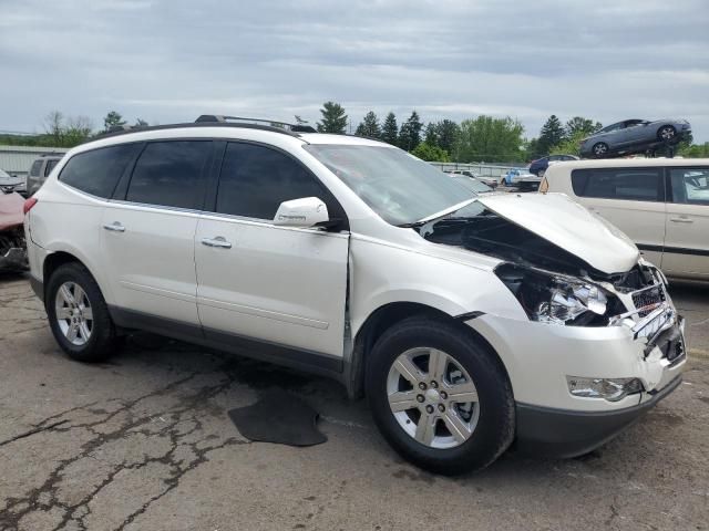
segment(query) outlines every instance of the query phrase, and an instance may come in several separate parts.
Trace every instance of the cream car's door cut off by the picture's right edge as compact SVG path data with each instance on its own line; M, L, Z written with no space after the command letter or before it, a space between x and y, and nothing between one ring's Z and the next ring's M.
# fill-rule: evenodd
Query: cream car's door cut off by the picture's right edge
M671 197L662 270L709 279L709 166L667 168Z

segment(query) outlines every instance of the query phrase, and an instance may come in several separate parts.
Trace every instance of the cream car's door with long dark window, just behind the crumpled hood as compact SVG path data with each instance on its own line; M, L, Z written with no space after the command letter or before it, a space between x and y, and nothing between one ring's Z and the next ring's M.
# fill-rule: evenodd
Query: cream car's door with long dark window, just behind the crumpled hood
M583 168L572 171L579 202L625 232L656 264L665 244L662 168Z

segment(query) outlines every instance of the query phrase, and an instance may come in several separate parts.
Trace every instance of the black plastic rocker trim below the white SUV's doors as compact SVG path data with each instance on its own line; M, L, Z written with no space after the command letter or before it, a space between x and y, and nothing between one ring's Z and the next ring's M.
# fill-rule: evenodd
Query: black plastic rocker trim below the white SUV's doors
M113 322L123 329L144 330L219 351L341 379L343 361L315 351L230 334L119 306L109 306Z

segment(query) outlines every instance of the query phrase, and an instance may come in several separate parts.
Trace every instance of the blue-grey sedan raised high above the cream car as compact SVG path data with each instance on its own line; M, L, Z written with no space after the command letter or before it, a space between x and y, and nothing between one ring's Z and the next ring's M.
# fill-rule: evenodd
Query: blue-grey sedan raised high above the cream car
M675 145L691 133L686 119L625 119L610 124L580 144L580 156L605 158Z

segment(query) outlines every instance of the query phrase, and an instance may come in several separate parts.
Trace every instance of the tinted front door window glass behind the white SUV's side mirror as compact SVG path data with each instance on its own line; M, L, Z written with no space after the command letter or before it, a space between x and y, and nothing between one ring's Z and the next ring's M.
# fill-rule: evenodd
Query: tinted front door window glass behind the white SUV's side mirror
M282 201L318 197L325 188L288 155L255 144L229 143L224 155L216 211L273 220ZM328 205L332 215L332 206Z

